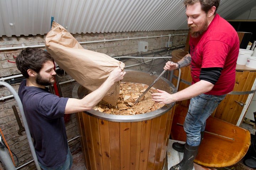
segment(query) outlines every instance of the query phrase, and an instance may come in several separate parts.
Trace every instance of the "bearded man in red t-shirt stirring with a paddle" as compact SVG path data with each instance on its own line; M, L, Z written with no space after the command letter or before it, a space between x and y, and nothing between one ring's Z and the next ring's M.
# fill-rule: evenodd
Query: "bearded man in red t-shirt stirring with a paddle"
M216 13L219 2L184 1L191 31L190 53L177 63L168 61L164 69L174 70L190 65L192 85L175 94L162 90L152 94L153 100L160 104L191 98L184 122L186 143L175 142L172 145L175 150L184 152L184 156L170 170L193 169L193 160L198 154L207 118L234 88L239 38L235 29Z

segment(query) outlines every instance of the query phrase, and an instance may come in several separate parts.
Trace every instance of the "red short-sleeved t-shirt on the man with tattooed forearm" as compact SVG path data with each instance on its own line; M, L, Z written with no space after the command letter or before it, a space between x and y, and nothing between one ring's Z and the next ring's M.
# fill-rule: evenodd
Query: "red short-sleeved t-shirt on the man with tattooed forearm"
M224 95L235 85L236 60L239 54L239 38L235 29L218 14L198 38L190 36L192 84L200 81L201 68L223 68L219 80L209 95Z

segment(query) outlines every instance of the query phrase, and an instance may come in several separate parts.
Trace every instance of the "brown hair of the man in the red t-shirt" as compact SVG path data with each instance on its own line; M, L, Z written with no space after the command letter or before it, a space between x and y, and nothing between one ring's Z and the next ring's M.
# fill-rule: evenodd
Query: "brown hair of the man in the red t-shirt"
M215 14L219 7L220 0L184 0L184 5L185 7L187 7L187 5L194 5L197 2L200 2L201 9L206 13L210 10L211 7L215 6Z

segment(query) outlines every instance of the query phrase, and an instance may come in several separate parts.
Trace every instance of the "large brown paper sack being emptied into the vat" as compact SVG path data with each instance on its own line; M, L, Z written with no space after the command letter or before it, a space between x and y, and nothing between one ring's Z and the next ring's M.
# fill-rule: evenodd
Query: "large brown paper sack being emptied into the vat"
M46 35L46 51L55 62L80 85L90 91L96 90L108 78L114 68L124 69L124 63L99 52L84 49L61 25L52 23ZM116 82L103 98L116 106L120 82Z

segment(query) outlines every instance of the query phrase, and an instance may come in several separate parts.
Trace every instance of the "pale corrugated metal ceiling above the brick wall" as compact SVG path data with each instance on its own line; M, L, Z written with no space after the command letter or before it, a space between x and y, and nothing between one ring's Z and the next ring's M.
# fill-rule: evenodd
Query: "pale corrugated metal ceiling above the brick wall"
M234 19L256 0L221 0L218 13ZM44 35L51 17L70 33L187 29L183 0L0 0L0 36Z

